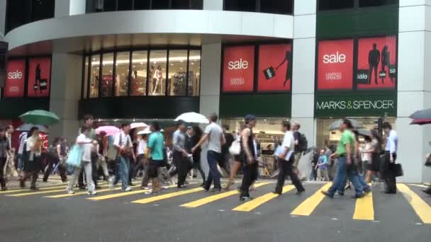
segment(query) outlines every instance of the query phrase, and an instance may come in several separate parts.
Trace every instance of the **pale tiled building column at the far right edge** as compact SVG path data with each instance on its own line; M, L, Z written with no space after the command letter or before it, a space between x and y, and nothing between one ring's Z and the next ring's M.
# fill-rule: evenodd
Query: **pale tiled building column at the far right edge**
M416 110L431 108L430 1L401 0L398 34L398 162L411 183L429 182L431 169L423 166L431 151L431 125L410 125Z

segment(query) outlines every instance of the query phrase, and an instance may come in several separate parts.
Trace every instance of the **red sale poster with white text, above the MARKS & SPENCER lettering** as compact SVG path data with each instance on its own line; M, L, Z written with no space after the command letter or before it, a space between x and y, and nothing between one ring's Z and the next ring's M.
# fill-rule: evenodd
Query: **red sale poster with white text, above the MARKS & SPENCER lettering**
M320 41L318 58L318 90L352 89L353 40Z

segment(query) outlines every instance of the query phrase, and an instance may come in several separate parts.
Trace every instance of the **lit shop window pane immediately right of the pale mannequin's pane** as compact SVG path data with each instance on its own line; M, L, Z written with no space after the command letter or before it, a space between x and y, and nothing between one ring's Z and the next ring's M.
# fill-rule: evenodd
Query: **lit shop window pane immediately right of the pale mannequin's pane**
M168 95L186 96L187 50L169 51Z

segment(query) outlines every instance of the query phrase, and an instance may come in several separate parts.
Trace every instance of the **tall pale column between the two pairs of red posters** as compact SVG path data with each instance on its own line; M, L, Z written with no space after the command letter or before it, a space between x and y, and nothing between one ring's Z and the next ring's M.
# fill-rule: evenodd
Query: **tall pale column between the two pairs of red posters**
M315 10L316 0L295 1L291 118L301 124L308 146L315 145Z

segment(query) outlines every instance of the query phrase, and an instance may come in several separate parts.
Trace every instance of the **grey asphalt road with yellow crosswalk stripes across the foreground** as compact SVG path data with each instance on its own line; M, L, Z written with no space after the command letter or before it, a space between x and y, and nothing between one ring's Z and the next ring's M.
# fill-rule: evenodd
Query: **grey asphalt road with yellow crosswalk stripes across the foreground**
M196 183L198 181L196 180ZM235 190L203 192L197 185L159 195L103 187L94 197L66 195L65 185L39 192L0 192L0 241L430 241L431 197L416 185L396 195L374 185L363 200L322 197L324 183L294 195L271 194L260 180L253 202ZM82 192L84 193L84 192ZM91 200L90 200L91 199Z

